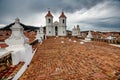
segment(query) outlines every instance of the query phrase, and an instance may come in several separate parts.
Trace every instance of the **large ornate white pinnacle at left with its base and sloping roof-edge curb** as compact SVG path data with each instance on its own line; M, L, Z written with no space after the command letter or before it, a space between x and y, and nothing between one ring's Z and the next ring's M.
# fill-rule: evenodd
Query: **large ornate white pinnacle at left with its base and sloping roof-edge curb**
M19 18L15 19L15 24L11 27L11 30L12 34L5 40L5 43L8 45L6 50L13 51L11 52L12 64L17 65L21 61L25 62L23 67L13 78L13 80L18 80L27 69L35 52L33 53L32 46L28 44L29 39L23 33L24 28L20 25Z

